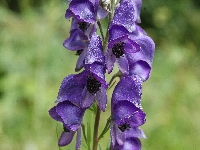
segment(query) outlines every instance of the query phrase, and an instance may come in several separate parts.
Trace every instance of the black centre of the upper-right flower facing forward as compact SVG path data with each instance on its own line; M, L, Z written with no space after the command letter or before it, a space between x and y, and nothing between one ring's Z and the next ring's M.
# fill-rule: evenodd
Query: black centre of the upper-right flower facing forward
M124 54L124 46L125 46L124 42L119 42L113 45L112 52L117 58L119 58Z

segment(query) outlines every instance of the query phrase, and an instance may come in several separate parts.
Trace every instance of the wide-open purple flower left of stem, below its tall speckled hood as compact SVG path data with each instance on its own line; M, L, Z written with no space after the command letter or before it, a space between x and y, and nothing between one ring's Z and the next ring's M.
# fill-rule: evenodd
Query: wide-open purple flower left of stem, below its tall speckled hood
M93 63L86 65L86 70L79 74L72 74L64 78L56 102L70 101L81 108L89 108L94 100L102 111L107 105L104 65Z

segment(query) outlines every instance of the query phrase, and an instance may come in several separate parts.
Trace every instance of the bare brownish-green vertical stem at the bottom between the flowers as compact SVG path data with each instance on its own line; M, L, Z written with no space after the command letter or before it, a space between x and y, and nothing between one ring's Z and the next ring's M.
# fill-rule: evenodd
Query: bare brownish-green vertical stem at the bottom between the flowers
M94 123L94 134L93 134L93 148L92 150L97 150L98 148L98 129L99 129L99 120L100 120L101 110L99 106L97 105L97 112L95 117L95 123Z

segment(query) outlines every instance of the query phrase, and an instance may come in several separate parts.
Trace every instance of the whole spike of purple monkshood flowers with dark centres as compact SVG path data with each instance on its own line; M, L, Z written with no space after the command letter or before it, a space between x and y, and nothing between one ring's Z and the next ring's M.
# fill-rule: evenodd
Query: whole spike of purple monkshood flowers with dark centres
M68 145L77 132L76 150L80 149L84 113L95 100L105 111L106 91L111 86L105 73L107 70L110 74L116 62L120 81L111 98L110 149L139 150L139 138L146 137L140 129L146 121L141 106L142 82L149 78L155 49L153 40L138 26L142 0L108 2L110 10L105 9L102 0L68 2L65 18L72 21L70 37L63 45L79 56L75 71L80 72L64 78L57 105L49 110L50 116L63 124L58 145ZM116 6L115 12L112 5ZM99 20L104 18L111 20L105 38L108 41L97 35ZM103 49L105 42L107 47Z

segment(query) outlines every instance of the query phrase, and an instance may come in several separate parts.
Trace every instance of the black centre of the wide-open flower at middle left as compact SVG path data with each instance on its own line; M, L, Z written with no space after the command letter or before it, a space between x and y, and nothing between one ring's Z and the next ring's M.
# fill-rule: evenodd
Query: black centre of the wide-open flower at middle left
M88 77L87 80L87 90L91 93L91 94L95 94L97 91L99 91L101 87L101 83L93 76Z

